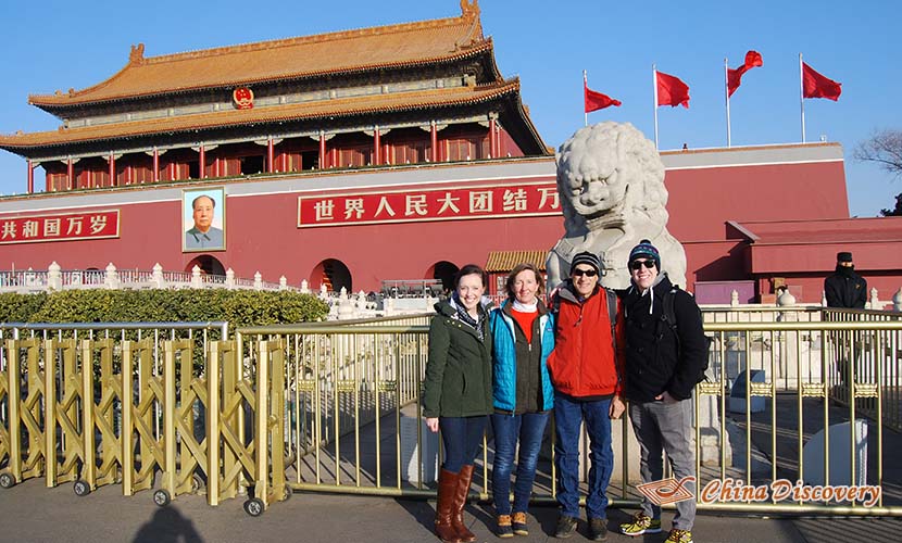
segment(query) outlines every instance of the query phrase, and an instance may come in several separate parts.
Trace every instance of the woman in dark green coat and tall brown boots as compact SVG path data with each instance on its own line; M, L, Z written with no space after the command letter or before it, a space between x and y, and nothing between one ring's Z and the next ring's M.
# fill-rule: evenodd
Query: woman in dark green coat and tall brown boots
M463 523L491 396L491 331L483 306L488 274L467 264L454 276L454 292L436 304L429 327L429 361L423 415L429 430L441 429L444 463L436 504L436 534L448 543L476 541Z

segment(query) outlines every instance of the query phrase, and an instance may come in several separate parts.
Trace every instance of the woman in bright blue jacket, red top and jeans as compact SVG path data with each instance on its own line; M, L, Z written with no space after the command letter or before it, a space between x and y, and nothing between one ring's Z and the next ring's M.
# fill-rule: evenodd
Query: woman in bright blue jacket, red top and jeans
M519 264L508 276L508 300L492 310L492 400L494 463L492 496L498 536L528 535L526 509L536 479L554 391L548 374L548 355L554 349L553 316L539 300L542 277L531 264ZM511 470L519 440L514 503Z

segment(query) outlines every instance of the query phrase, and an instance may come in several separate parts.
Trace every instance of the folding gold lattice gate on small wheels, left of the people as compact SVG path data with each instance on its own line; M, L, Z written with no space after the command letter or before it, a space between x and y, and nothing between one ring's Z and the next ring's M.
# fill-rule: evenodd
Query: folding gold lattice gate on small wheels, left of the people
M0 485L43 477L131 495L156 481L158 505L204 484L211 505L248 489L253 516L288 497L284 344L258 342L245 365L235 341L210 337L225 324L152 325L0 326Z

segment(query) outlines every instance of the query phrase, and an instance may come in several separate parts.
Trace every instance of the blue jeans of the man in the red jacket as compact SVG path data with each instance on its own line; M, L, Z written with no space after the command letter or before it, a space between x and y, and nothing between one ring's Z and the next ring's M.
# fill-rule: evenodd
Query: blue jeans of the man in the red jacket
M585 421L591 462L586 514L589 518L606 518L605 491L614 469L610 407L610 399L575 402L564 394L554 393L554 454L558 466L558 504L562 515L579 517L579 425Z

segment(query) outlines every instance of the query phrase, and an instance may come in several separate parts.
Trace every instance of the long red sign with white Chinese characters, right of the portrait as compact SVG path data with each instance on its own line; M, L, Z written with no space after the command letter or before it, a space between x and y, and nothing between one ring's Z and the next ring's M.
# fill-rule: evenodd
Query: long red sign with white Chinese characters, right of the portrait
M298 227L556 215L553 181L389 193L300 197Z

